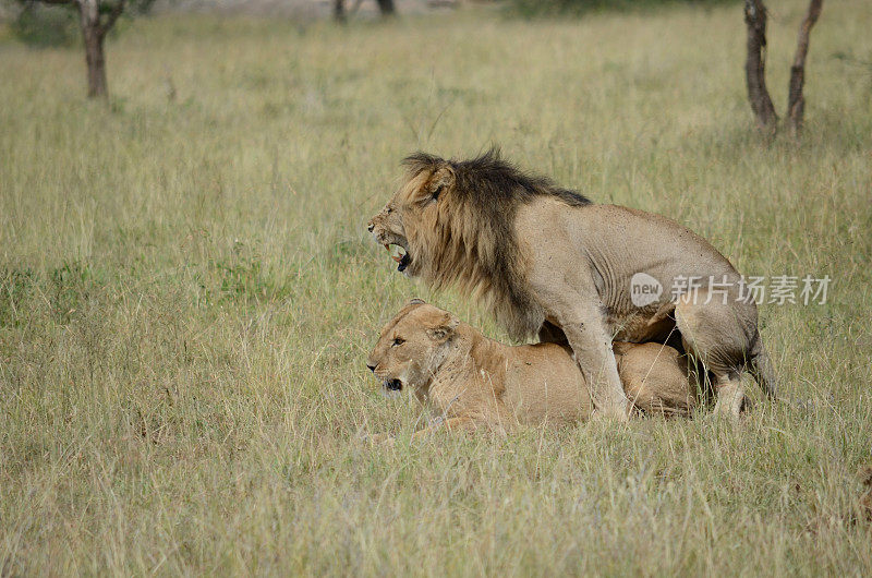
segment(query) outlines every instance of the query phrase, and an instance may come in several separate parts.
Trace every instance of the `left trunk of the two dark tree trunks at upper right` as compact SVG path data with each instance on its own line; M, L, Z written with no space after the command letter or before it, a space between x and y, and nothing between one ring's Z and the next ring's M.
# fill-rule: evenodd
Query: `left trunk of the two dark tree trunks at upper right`
M748 26L748 59L744 75L748 99L761 131L775 134L778 116L766 89L764 53L766 49L766 7L763 0L744 0L744 23Z

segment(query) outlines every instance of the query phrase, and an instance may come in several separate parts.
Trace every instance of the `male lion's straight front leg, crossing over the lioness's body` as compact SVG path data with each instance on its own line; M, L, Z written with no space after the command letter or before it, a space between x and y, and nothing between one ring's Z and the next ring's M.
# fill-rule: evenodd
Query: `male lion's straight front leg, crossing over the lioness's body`
M592 304L585 309L559 316L558 321L590 390L593 417L627 421L632 405L623 393L618 375L618 364L611 351L611 335L598 314L598 306Z

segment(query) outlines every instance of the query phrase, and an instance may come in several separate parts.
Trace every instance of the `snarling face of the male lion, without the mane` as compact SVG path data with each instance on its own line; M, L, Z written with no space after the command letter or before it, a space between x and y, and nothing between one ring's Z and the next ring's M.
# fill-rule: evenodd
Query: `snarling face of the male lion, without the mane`
M434 230L438 201L455 183L451 162L424 153L405 160L405 182L368 222L376 242L385 245L397 262L397 270L421 274L425 263L422 231Z

